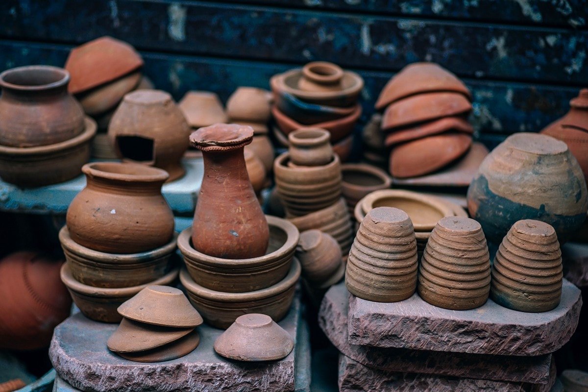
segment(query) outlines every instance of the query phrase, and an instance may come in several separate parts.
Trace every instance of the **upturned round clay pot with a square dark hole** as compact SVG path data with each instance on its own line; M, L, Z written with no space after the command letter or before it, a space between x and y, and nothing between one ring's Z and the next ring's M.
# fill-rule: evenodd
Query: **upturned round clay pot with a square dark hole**
M138 90L125 95L112 116L108 137L119 158L159 167L168 181L182 177L190 127L171 95Z

